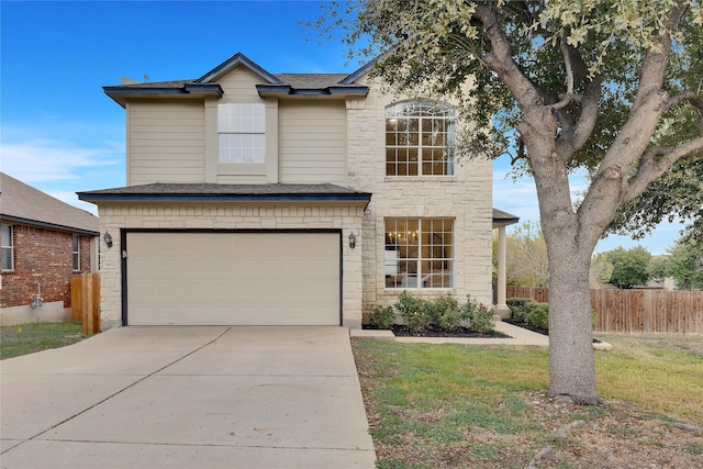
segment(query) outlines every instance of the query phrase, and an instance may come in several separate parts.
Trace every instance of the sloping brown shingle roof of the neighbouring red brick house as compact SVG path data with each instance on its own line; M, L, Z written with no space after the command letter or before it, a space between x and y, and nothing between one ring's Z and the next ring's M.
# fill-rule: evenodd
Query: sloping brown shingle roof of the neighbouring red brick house
M2 220L98 235L98 217L0 172Z

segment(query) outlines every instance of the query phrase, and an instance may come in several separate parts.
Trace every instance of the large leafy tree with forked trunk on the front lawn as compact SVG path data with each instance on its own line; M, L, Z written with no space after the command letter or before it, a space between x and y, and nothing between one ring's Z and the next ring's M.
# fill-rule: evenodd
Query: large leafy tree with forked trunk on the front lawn
M371 76L391 90L460 100L473 126L459 156L512 147L534 177L550 270L551 397L600 402L593 248L618 210L703 150L703 124L672 125L703 109L689 86L701 10L700 0L359 0L332 3L319 22L377 57ZM579 167L592 178L577 206L569 175Z

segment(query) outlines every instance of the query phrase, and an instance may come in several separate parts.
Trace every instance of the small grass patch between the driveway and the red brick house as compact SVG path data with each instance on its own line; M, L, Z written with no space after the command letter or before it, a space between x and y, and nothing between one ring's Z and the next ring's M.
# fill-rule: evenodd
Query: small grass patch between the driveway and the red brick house
M0 359L19 357L82 340L80 322L21 324L0 327Z

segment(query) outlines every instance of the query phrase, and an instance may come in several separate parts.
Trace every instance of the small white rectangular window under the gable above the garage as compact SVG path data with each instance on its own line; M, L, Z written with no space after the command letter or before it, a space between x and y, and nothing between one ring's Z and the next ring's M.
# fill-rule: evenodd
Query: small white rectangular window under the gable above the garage
M217 105L220 163L263 164L266 157L266 108L260 103Z

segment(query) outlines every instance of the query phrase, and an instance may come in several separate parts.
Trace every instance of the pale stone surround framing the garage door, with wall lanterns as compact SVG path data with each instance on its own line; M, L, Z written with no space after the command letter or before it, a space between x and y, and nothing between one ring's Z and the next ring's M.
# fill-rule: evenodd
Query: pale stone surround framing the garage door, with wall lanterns
M121 228L152 230L342 230L343 325L361 327L361 225L364 205L339 203L101 203L100 232L110 232L112 248L101 241L101 330L122 325ZM346 242L357 236L355 249ZM129 260L129 258L127 258ZM116 266L116 267L110 267Z

